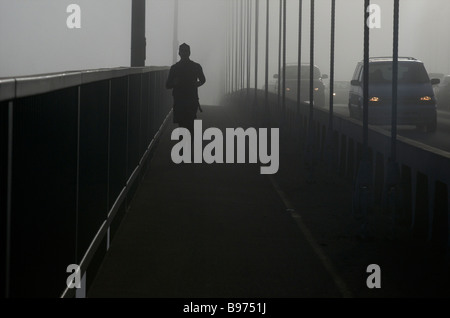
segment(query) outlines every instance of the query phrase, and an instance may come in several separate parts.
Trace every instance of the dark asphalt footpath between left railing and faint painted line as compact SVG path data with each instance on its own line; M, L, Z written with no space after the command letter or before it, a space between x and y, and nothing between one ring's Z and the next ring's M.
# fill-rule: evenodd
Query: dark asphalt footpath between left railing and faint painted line
M200 118L204 129L241 124L225 107ZM176 165L173 127L88 297L341 297L260 165Z

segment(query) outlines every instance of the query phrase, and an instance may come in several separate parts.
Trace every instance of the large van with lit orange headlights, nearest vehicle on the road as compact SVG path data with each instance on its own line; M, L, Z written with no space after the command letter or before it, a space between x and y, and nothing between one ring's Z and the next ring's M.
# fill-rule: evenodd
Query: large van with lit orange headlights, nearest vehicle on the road
M390 125L392 115L392 58L369 58L369 124ZM349 115L363 117L364 62L358 62L350 82ZM436 97L431 79L422 61L413 57L398 58L397 124L415 125L427 132L436 131Z

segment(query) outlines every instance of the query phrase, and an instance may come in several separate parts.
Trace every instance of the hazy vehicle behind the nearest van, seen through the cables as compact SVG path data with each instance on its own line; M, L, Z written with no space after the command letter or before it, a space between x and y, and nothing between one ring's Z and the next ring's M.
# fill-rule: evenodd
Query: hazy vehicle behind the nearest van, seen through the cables
M300 101L309 103L309 80L310 80L310 65L301 64L301 78L300 78ZM278 91L278 74L273 76L277 81L275 90ZM282 70L280 77L283 77ZM314 83L314 105L318 107L325 106L325 85L324 79L328 75L322 74L319 67L314 65L313 83ZM290 63L286 65L286 98L297 100L297 81L298 81L298 64Z

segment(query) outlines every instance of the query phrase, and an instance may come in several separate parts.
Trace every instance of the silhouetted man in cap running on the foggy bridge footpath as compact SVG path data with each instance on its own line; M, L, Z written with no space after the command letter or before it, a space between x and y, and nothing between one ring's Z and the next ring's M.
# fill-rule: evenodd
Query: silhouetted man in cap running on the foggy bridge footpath
M198 98L198 87L206 82L203 69L189 57L191 49L189 45L180 45L178 54L180 61L172 65L166 82L166 88L172 89L173 96L173 122L178 127L187 128L194 134L194 120L197 111L202 111Z

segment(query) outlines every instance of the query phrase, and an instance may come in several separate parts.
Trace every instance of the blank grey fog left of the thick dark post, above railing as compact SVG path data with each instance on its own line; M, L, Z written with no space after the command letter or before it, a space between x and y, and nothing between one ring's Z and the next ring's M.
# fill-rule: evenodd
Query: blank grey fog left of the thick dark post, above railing
M66 8L81 8L69 29ZM0 77L130 65L130 3L123 0L0 1Z

